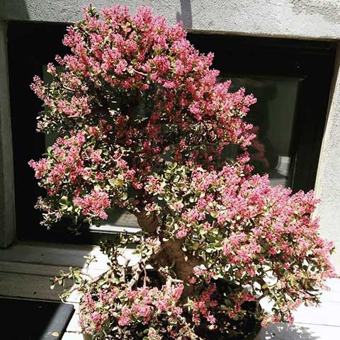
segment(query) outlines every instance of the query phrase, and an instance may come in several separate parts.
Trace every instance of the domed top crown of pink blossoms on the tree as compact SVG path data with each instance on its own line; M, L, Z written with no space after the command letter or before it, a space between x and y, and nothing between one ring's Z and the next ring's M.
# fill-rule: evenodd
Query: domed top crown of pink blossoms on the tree
M35 77L32 89L45 104L41 131L67 133L115 111L116 142L138 154L136 169L148 169L170 146L178 161L211 161L223 145L249 145L254 135L242 117L256 99L229 92L229 81L217 84L212 54L200 55L181 24L168 28L145 7L134 16L120 6L102 15L89 7L68 29L64 44L73 54L57 57L62 73L47 68L51 84ZM150 112L136 109L138 101Z

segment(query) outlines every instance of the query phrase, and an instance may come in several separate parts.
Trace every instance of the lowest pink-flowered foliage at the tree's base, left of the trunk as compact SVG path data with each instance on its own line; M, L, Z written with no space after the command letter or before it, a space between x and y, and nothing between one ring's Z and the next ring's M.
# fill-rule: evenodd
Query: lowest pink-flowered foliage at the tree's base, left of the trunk
M116 245L108 251L120 254ZM147 285L152 273L145 273L144 283L130 285L130 276L125 276L117 256L111 258L110 269L94 279L78 268L62 274L53 280L64 283L65 278L74 279L81 292L79 324L96 339L198 339L190 321L186 321L182 283Z

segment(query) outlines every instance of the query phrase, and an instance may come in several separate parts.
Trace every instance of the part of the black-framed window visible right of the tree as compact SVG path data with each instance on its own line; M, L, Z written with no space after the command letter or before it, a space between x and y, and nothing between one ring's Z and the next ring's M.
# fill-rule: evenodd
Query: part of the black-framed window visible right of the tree
M259 126L259 142L267 151L263 164L253 150L255 171L268 172L273 184L293 191L314 188L335 45L194 33L188 38L201 52L215 52L213 67L223 78L259 99L247 118Z

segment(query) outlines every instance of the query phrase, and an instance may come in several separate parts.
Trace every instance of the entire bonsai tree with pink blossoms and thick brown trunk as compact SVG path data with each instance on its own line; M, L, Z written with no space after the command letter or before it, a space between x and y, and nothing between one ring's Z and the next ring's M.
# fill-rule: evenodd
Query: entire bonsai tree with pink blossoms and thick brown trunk
M301 303L318 303L335 275L333 245L311 217L312 192L251 174L246 147L255 135L244 116L254 96L217 84L212 54L146 7L100 16L89 6L64 45L71 53L56 57L58 69L48 65L50 84L35 77L32 85L44 107L38 130L60 136L30 161L47 192L37 204L42 225L100 225L120 207L142 229L103 243L110 267L101 276L72 269L55 278L73 278L81 292L84 332L244 339L255 319L292 322ZM230 147L239 150L234 159ZM131 243L134 266L121 251Z

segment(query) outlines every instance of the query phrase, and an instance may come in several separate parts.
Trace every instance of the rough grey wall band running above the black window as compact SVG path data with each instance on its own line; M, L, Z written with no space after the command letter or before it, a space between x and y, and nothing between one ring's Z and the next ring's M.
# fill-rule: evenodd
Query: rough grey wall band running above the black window
M72 22L89 0L2 0L6 19ZM186 28L310 38L339 38L338 0L93 0L97 8L127 4L132 11L143 4L162 13L170 23ZM1 6L1 5L0 5Z

